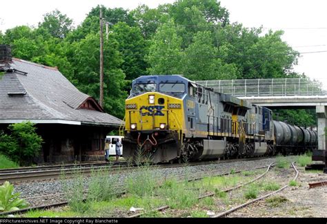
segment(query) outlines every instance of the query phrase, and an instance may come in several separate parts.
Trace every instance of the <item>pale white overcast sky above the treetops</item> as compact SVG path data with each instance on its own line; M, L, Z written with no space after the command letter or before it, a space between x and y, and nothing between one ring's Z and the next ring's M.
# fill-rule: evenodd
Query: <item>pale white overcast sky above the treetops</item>
M79 25L92 7L132 10L140 4L156 8L175 0L11 0L1 1L0 30L28 25L37 26L43 15L58 9ZM284 30L282 37L301 53L294 70L327 83L327 1L325 0L221 0L230 12L230 21L244 27L263 26L265 30ZM6 10L3 10L6 9ZM318 53L319 52L319 53ZM326 85L327 86L327 85Z

